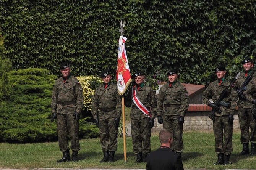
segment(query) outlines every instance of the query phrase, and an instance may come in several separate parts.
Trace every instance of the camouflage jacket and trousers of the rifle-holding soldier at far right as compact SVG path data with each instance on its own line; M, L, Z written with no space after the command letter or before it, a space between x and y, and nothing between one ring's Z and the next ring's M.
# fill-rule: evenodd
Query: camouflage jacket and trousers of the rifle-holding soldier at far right
M250 72L251 73L251 72ZM249 73L249 74L250 74ZM235 88L238 89L241 87L241 85L243 84L243 82L245 81L246 77L245 77L245 71L243 71L237 81L235 82ZM253 83L253 80L255 80L255 76L253 75L253 79L249 82L249 84L247 85L247 87L251 86ZM252 93L255 93L255 91L253 92L253 88L251 89ZM246 92L244 92L246 93ZM249 100L250 100L250 95L248 96ZM251 101L253 99L251 98ZM241 98L239 97L239 101L238 101L238 118L239 118L239 123L240 123L240 130L241 130L241 138L240 138L240 142L241 143L248 143L249 141L252 143L256 143L256 120L253 118L253 114L251 111L253 111L254 108L254 104L252 104L250 101L247 101L245 98ZM251 129L251 133L249 135L249 127Z

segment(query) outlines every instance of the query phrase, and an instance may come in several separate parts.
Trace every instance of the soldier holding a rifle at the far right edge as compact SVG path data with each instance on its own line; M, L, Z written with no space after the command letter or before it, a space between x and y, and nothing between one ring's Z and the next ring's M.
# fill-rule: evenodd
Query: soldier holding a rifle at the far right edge
M235 87L240 88L243 85L246 77L251 74L251 69L253 67L253 60L249 57L243 59L243 73L239 75L237 81L235 82ZM255 74L253 75L253 79L255 79ZM252 84L253 80L250 81ZM250 86L250 84L247 85ZM253 93L253 89L251 89ZM251 94L253 94L251 93ZM240 141L243 144L243 150L241 155L249 154L249 141L251 142L251 155L256 155L256 120L253 116L253 108L254 104L251 103L252 99L249 95L249 100L246 100L243 94L243 91L237 89L237 94L239 97L238 101L238 117L239 117L239 124L241 130L241 138ZM255 117L256 118L256 117ZM251 133L249 133L249 127L251 129Z

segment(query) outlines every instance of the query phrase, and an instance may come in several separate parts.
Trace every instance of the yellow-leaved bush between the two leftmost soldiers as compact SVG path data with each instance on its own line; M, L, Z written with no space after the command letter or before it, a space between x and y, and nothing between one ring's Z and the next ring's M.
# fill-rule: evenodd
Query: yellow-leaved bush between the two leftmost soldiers
M103 83L102 79L94 75L89 76L79 76L76 77L79 80L81 86L83 87L84 95L84 108L86 111L90 111L92 108L92 97L94 91L99 85Z

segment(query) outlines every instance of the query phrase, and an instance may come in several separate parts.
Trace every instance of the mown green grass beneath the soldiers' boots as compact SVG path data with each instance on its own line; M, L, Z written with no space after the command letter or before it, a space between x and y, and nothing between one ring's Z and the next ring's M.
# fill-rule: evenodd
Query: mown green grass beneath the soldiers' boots
M184 132L184 152L182 154L185 169L255 169L256 156L240 156L242 145L240 133L233 134L233 152L229 165L212 165L217 160L214 152L214 135L212 132ZM118 138L118 149L113 163L99 163L103 153L99 138L80 141L81 151L78 162L56 163L62 157L58 143L0 143L0 168L131 168L145 169L146 163L135 164L131 137L126 137L126 163L123 154L123 138ZM151 136L151 149L156 150L160 143L158 133Z

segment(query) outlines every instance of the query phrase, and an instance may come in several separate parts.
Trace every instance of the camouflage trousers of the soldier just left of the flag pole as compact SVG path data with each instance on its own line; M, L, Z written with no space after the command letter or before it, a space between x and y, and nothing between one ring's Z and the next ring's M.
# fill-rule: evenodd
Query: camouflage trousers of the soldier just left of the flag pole
M99 118L100 144L103 152L117 150L117 129L115 118Z

